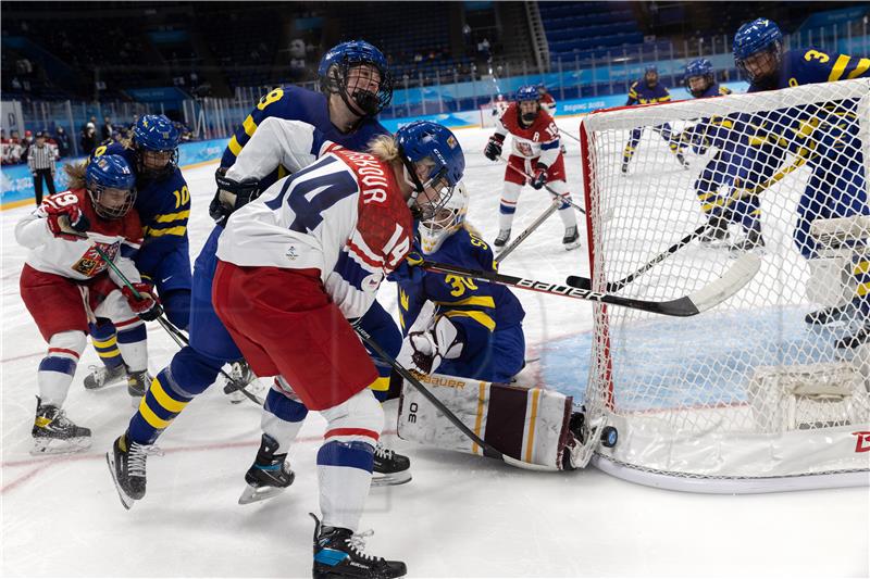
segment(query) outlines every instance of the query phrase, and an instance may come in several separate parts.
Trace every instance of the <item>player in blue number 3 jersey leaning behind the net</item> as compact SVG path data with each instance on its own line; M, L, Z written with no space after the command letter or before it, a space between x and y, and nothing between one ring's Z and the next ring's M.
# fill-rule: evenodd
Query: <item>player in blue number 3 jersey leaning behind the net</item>
M870 77L868 59L829 54L818 49L784 51L782 33L768 18L756 18L739 27L734 35L734 62L749 80L749 92ZM807 260L819 257L819 242L810 235L815 221L870 214L858 114L857 103L843 102L830 114L791 108L781 111L779 118L771 115L765 118L768 125L776 127L776 133L768 135L767 140L785 143L781 147L803 158L811 169L798 201L793 232L795 246ZM808 127L812 128L809 133ZM855 297L846 304L806 316L806 323L812 325L856 318L860 327L837 340L836 348L855 348L870 338L870 260L855 252L850 269Z

